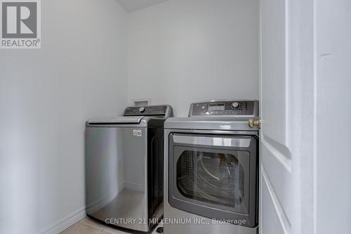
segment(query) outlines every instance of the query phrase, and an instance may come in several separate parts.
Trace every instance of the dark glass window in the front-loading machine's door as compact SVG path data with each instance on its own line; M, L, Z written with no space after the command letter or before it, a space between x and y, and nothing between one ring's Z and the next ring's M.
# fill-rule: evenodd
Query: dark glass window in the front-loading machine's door
M205 152L185 150L177 162L177 187L188 198L231 207L247 214L245 204L245 171L241 159L249 152Z

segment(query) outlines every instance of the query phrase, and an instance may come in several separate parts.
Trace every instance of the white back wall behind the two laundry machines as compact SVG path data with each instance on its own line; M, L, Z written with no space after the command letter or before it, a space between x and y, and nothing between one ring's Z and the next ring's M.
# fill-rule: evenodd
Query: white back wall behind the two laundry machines
M258 0L170 0L129 15L128 101L258 98Z

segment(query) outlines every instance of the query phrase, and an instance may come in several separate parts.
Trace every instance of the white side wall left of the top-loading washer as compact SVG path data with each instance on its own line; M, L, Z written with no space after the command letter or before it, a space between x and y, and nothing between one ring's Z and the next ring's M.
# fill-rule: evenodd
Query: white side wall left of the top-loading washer
M0 51L0 233L57 233L85 214L85 121L127 103L117 1L41 1L41 11L41 49Z

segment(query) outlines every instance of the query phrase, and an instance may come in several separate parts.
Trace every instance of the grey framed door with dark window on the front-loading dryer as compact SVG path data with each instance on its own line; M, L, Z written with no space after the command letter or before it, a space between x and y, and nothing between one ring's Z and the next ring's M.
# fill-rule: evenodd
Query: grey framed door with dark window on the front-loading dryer
M169 143L168 202L172 207L256 226L256 137L171 134Z

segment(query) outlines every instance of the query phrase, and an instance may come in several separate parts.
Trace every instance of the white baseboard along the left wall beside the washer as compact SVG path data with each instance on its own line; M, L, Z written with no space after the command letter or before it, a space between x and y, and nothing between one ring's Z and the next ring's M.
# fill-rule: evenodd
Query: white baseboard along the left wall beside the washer
M77 223L79 220L83 219L86 216L86 208L82 207L81 209L77 209L75 212L68 214L64 218L59 221L53 223L51 226L44 228L39 231L38 234L58 234L72 226L74 223Z

